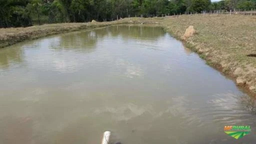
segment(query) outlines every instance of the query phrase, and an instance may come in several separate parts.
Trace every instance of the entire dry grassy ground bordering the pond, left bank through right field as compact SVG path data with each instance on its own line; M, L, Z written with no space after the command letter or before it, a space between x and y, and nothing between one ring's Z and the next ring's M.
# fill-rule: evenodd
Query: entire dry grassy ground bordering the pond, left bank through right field
M122 23L158 23L180 39L185 29L193 25L196 34L184 44L206 62L234 78L250 94L256 95L256 16L248 15L181 15L167 18L124 18L111 22L45 24L26 28L1 28L0 47L13 43L74 31Z

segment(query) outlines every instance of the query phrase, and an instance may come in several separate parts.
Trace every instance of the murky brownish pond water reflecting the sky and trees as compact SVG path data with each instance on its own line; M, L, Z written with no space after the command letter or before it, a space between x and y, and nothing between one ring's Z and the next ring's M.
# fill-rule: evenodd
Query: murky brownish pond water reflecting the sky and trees
M0 49L0 143L255 143L254 99L159 27ZM250 125L236 140L224 125Z

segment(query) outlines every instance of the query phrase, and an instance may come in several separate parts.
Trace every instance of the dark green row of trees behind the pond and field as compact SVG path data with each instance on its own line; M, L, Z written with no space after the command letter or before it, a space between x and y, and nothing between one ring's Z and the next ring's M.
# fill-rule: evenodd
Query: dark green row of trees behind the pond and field
M256 0L0 0L0 27L256 8Z

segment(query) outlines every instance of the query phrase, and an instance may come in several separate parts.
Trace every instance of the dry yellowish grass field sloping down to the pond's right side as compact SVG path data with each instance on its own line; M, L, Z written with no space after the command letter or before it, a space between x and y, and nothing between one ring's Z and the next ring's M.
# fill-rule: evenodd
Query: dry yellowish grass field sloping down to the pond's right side
M181 15L162 24L176 37L193 25L197 34L186 39L186 45L255 95L256 57L247 56L256 53L255 15Z

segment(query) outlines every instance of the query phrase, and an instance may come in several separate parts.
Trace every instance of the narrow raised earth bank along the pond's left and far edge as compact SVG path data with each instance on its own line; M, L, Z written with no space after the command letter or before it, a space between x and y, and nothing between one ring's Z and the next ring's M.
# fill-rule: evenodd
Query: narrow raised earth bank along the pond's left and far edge
M140 23L140 20L129 20L128 18L110 21L110 22L96 22L95 20L87 23L57 23L44 24L30 27L18 28L0 28L0 47L5 47L24 40L36 39L48 35L59 34L64 32L76 31L81 29L90 29L96 27L103 27L113 24L125 23ZM144 23L151 23L151 20L143 19Z

